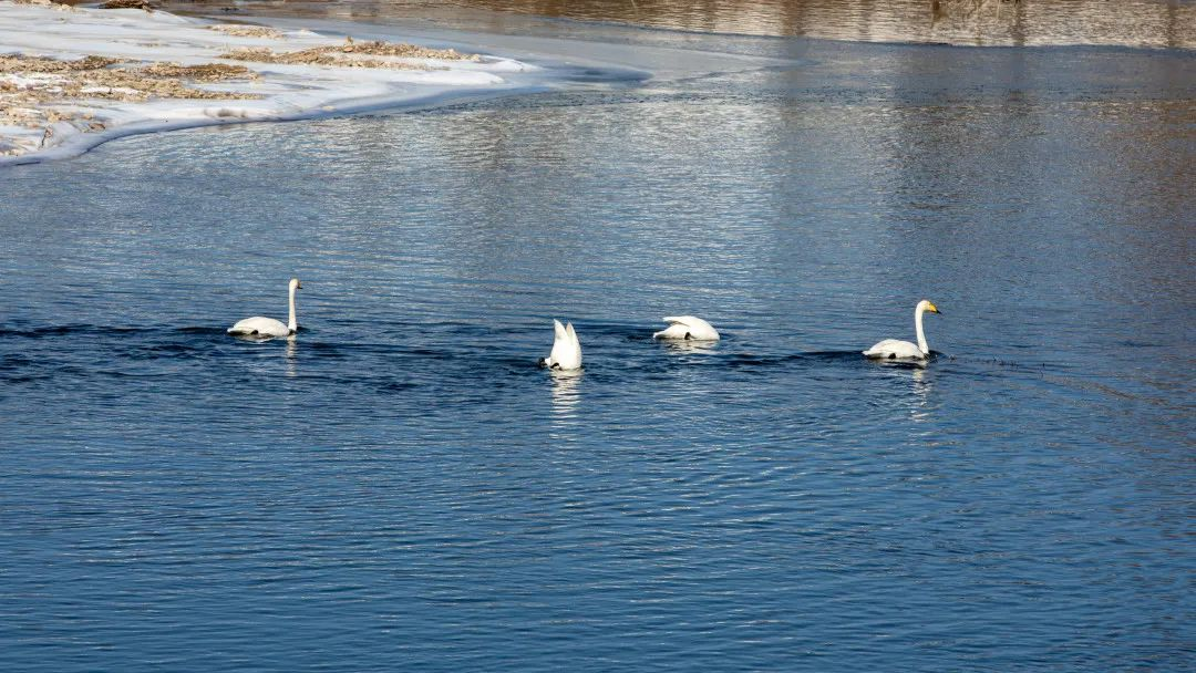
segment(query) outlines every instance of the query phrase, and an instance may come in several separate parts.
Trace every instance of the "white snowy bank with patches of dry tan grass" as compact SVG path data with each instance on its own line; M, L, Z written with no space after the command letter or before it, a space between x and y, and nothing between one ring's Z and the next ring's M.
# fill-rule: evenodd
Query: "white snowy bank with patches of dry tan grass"
M527 88L517 78L538 69L437 47L0 0L0 165L135 133Z

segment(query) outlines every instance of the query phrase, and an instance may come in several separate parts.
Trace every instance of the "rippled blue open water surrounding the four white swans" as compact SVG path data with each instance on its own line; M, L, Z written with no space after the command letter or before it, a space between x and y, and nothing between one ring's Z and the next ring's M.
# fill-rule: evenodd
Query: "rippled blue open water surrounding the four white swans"
M0 668L1196 668L1191 55L684 42L0 172Z

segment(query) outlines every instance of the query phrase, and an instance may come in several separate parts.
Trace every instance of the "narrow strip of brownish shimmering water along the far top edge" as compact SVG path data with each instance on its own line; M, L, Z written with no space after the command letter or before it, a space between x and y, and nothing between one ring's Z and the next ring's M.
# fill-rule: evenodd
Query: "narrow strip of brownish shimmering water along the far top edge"
M856 42L1196 48L1189 0L167 0L171 11L501 25L509 14Z

